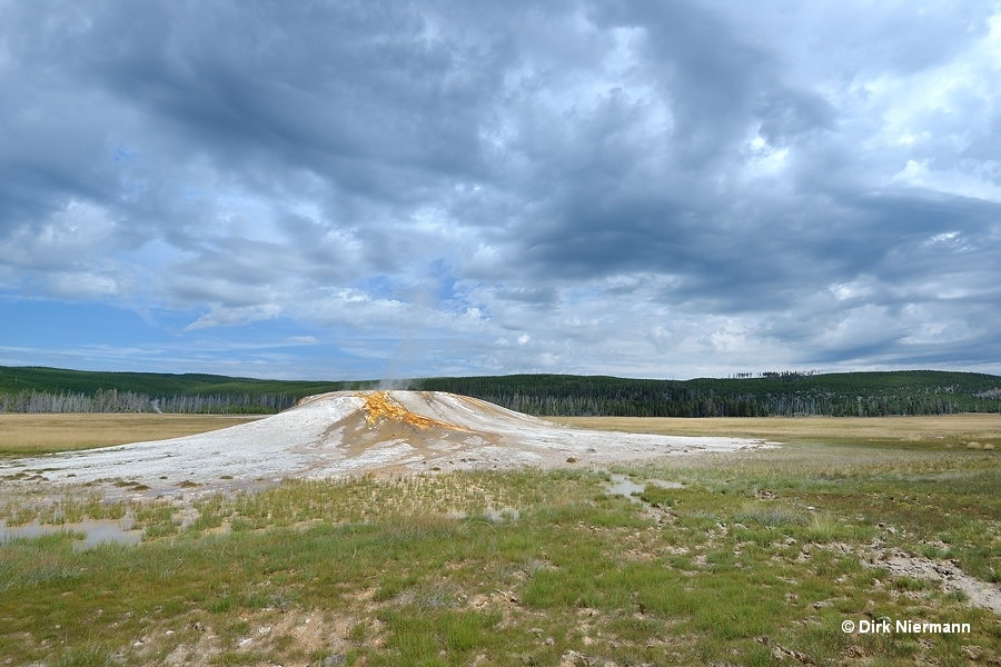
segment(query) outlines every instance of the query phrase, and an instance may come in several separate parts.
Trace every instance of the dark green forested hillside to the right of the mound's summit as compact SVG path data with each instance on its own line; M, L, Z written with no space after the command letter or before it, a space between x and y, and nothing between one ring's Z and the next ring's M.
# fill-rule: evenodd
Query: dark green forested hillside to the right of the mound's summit
M1001 412L1001 378L948 371L762 374L755 378L632 380L579 376L435 378L415 387L474 396L546 416L875 417Z

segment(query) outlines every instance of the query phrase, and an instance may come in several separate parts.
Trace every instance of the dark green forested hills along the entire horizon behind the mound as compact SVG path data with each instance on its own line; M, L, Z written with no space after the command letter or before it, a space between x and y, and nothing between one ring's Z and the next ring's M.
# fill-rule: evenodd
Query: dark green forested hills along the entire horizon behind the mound
M377 385L377 380L259 380L0 367L0 412L269 414L313 394ZM771 372L694 380L512 375L420 378L412 380L408 388L452 391L519 412L546 416L871 417L1001 412L1001 377L941 370Z

